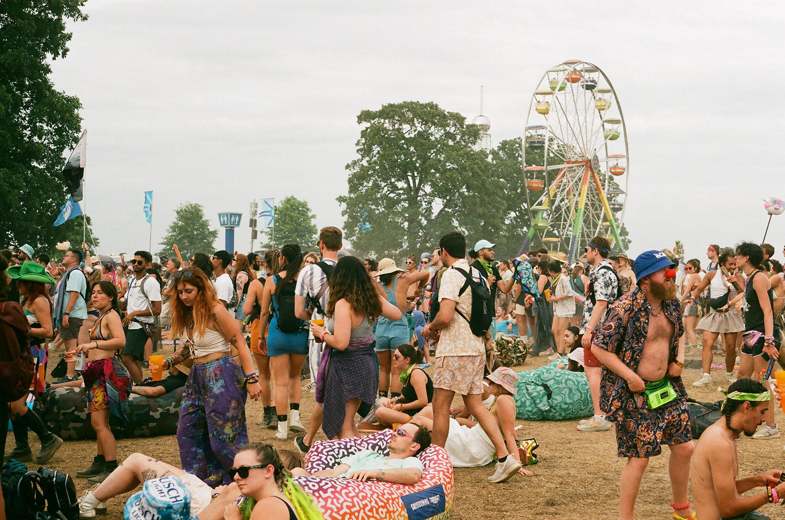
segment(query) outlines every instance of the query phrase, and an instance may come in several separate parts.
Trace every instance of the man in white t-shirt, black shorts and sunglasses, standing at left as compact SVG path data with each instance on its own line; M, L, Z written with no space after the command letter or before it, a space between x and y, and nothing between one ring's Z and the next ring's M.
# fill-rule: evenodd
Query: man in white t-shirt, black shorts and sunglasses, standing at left
M143 324L152 326L153 316L161 314L161 285L158 280L145 272L151 260L152 256L147 251L133 253L131 267L136 278L126 292L128 315L122 320L122 325L128 327L126 347L122 349L122 364L128 369L134 383L140 383L142 380L141 360L144 358L144 344L148 340ZM147 297L144 296L145 294Z

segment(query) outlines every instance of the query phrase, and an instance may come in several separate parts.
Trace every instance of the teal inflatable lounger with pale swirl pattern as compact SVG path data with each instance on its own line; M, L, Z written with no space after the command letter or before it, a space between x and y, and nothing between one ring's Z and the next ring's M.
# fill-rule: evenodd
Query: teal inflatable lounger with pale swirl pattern
M560 358L539 369L518 373L517 419L577 419L594 413L586 375L556 368L558 363L567 362L568 358Z

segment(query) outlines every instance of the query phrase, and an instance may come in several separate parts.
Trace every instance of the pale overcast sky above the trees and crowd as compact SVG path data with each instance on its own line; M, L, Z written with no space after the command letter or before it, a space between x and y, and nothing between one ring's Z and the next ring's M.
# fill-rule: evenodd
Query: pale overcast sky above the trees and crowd
M760 241L781 181L782 5L743 2L166 2L89 0L57 88L89 130L86 210L102 253L153 248L181 202L244 213L335 198L363 109L435 101L472 118L485 85L494 144L523 133L539 77L581 59L611 78L626 116L631 254ZM777 153L774 153L774 152ZM785 215L769 242L785 242ZM223 232L217 241L223 247Z

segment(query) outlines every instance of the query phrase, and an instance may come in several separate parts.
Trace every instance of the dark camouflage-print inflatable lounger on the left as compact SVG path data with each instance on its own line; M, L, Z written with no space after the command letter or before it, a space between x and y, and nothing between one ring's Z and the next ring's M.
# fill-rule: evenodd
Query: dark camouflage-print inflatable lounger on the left
M118 417L110 414L109 427L116 438L175 435L182 398L182 387L155 398L131 394L128 399L130 426L123 426ZM87 395L82 388L51 388L36 400L36 406L54 435L68 441L96 438L87 416Z

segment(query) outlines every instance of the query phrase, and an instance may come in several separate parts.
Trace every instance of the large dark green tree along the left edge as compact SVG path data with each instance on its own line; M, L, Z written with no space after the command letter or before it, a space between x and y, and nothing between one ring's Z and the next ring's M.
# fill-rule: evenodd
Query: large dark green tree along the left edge
M68 20L85 0L0 2L0 242L49 250L69 238L54 227L67 197L64 151L79 138L79 99L55 89L50 60L68 53ZM67 223L68 224L68 223ZM80 241L81 242L81 241ZM79 245L79 244L77 244Z

